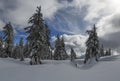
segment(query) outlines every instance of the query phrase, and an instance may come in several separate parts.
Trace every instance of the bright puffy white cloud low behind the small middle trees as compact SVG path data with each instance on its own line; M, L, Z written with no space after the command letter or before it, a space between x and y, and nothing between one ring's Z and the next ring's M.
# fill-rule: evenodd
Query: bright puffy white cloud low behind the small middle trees
M60 37L62 36L64 38L66 51L68 54L70 54L71 47L75 50L78 56L85 54L85 49L86 49L85 42L86 42L87 36L63 34ZM56 37L53 36L52 41L55 41L55 40L56 40Z

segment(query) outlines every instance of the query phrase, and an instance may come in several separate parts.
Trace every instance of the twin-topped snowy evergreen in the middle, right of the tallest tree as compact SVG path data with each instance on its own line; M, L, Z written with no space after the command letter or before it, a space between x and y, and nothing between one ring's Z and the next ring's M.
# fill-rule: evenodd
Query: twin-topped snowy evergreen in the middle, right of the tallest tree
M68 55L65 50L64 39L59 38L57 35L57 40L55 43L54 59L55 60L65 60L68 58Z

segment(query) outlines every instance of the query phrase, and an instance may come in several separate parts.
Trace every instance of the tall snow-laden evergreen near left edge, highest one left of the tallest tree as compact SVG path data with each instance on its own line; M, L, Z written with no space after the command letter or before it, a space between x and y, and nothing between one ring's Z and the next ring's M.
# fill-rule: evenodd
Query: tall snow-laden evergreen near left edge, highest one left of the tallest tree
M7 56L12 57L12 50L14 47L14 30L11 23L8 23L3 27L3 33L4 33L4 40L7 44L6 54Z

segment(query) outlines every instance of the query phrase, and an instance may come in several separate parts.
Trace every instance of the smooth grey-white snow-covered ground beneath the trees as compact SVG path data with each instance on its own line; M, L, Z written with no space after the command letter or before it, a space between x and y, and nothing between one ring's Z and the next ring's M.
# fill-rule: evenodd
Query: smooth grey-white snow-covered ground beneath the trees
M120 81L120 56L87 65L53 60L33 66L27 60L0 58L0 81Z

